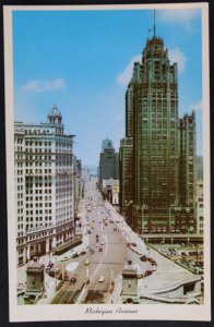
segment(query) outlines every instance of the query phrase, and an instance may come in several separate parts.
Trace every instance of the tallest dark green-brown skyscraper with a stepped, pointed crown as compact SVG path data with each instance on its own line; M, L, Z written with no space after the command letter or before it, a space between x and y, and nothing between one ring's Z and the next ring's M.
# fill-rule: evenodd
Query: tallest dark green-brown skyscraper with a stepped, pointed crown
M132 215L138 230L180 232L185 226L194 225L194 113L179 120L177 63L170 63L168 50L155 35L154 26L142 61L134 63L126 93L126 137L130 144L132 140L129 171L133 167L133 179L124 177L120 192L123 198L130 197L133 189ZM121 154L123 148L124 141ZM122 171L127 165L126 156L121 155ZM179 210L188 218L178 219Z

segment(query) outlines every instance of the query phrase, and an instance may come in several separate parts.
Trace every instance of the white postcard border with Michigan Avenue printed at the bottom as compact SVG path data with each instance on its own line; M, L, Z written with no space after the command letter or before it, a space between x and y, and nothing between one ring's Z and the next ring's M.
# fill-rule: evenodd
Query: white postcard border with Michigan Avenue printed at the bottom
M142 9L201 9L203 44L203 160L204 160L204 304L176 305L140 304L140 305L17 305L16 304L16 259L15 259L15 208L14 199L14 146L13 146L13 47L12 47L12 11L40 10L142 10ZM4 5L4 65L5 65L5 136L7 136L7 189L8 189L8 239L9 239L9 295L10 322L39 320L211 320L211 265L210 265L210 87L209 87L209 4L207 3L171 3L171 4L127 4L127 5ZM110 311L110 314L84 314L86 307ZM117 314L122 310L138 308L134 314ZM170 310L166 310L170 308Z

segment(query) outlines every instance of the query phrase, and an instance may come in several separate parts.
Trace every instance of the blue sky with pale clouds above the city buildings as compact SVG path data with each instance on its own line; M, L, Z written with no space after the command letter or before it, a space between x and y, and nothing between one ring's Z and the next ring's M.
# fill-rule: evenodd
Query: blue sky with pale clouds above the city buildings
M14 11L14 120L45 122L56 104L74 153L98 165L102 141L118 150L124 136L124 92L152 27L150 10ZM157 10L156 35L178 62L179 116L195 110L201 155L201 11Z

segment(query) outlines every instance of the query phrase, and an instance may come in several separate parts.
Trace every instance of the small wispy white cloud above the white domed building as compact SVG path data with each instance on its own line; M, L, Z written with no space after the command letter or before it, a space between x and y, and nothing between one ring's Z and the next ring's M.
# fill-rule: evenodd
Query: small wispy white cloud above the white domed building
M48 92L66 86L63 78L52 81L33 80L25 84L22 88L25 92Z

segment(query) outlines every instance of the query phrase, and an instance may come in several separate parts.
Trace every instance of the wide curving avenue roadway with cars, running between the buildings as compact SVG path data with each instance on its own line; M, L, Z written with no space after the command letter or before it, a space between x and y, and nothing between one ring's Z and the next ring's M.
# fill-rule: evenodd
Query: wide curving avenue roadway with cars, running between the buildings
M63 269L72 266L71 263L76 266L76 269L69 271L69 279L75 277L76 282L71 284L66 281L51 303L108 301L110 286L127 264L127 241L110 219L94 180L85 185L85 198L80 204L79 214L87 253L59 264Z

